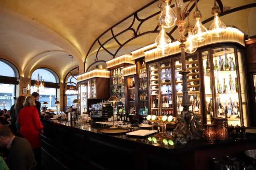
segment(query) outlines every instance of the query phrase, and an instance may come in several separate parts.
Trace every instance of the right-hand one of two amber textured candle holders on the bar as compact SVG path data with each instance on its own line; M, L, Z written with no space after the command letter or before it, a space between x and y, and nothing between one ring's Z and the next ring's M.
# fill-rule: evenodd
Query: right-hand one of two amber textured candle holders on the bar
M215 118L215 120L216 120L216 139L221 141L229 139L227 118Z

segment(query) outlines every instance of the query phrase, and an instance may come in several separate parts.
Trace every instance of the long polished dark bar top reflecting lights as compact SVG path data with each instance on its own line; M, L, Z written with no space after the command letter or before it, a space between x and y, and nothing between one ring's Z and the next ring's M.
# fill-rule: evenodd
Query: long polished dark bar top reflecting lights
M80 132L88 132L88 133L97 133L101 134L100 130L109 128L109 126L104 126L102 124L93 123L92 125L89 123L81 123L81 122L67 122L63 120L49 120L49 119L41 119L42 121L52 122L56 126L62 126L63 128L74 128L74 130L78 130ZM136 129L136 130L139 130ZM167 132L167 134L170 132ZM106 134L101 134L106 135ZM127 141L137 142L143 145L153 146L156 148L169 149L172 151L193 151L205 148L214 148L218 146L230 146L236 145L238 143L246 143L246 142L256 142L256 135L249 135L246 140L227 140L227 141L217 141L217 142L206 142L205 140L193 140L189 141L185 145L176 144L175 139L168 135L160 135L154 134L151 136L147 136L146 138L137 138L131 137L128 135L107 135L113 138L123 139ZM246 144L245 144L246 145Z

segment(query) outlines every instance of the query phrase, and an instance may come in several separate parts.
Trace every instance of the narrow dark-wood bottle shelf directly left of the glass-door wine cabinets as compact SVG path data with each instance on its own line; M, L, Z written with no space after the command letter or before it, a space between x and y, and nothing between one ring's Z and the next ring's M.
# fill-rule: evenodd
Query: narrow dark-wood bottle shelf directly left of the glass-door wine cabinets
M139 114L148 115L147 67L143 60L137 61L138 87L139 87Z

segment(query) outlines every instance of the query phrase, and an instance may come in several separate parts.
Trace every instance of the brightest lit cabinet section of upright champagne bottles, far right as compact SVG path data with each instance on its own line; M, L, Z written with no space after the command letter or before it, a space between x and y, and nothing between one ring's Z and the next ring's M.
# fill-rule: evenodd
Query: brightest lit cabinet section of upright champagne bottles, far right
M202 52L207 123L212 116L217 116L227 118L229 125L241 126L236 49L215 48L211 50L212 56L208 54L208 51Z

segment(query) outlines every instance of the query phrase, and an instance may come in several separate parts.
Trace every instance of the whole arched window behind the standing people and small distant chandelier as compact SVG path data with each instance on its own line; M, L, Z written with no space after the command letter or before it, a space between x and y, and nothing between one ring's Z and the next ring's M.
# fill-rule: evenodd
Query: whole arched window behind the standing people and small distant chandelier
M39 80L42 80L45 83L45 88L44 90L38 89L34 87L33 81L31 81L31 94L35 91L38 92L40 95L39 102L41 103L41 106L46 106L48 109L55 110L56 104L55 102L57 101L57 89L59 88L59 77L58 75L48 69L48 68L38 68L35 70L32 75L31 75L31 80L37 80L39 75ZM44 104L47 102L48 104Z

